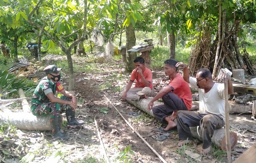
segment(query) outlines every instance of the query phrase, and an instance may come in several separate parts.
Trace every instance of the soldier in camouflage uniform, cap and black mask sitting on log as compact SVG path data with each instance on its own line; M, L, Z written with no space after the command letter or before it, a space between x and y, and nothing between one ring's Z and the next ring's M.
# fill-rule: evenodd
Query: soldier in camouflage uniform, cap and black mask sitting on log
M61 69L57 65L49 65L44 68L46 76L37 85L33 97L31 99L31 112L35 116L50 115L52 132L55 137L67 139L68 136L60 132L60 111L65 110L68 125L83 125L84 122L78 122L75 119L75 109L77 100L74 95L66 91L60 84ZM64 96L55 97L55 92L58 91Z

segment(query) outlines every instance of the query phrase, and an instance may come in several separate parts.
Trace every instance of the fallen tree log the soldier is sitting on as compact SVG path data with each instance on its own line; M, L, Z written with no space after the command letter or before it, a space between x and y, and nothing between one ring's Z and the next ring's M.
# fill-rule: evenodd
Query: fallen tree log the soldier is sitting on
M18 129L24 130L52 130L50 116L36 117L26 112L0 112L0 122L8 122ZM62 125L62 122L60 124Z

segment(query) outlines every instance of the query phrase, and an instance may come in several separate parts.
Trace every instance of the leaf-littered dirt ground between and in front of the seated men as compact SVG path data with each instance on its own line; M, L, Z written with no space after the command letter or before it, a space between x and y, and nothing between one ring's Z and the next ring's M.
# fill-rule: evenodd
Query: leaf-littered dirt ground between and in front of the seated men
M177 147L177 131L170 133L163 141L155 140L160 134L155 129L161 124L119 97L117 88L126 84L130 77L121 74L124 68L119 68L118 64L122 62L117 61L114 64L116 66L110 67L99 64L104 73L76 73L73 93L80 102L76 116L78 120L84 121L85 125L65 125L63 131L70 136L67 141L52 138L50 131L17 130L16 134L8 132L0 137L0 162L18 162L25 155L21 162L106 162L104 150L109 162L162 162L126 124L106 97L166 162L227 162L227 154L217 148L213 148L206 156L201 155L197 148L202 142L196 139L193 145ZM165 85L165 82L162 82L164 78L164 72L157 71L153 80L155 93ZM67 81L67 78L63 78L64 86L67 86ZM139 117L129 117L130 112L138 113ZM100 145L94 119L104 149ZM235 160L256 141L256 121L251 120L250 114L232 114L230 130L238 135L238 143L231 154L232 160Z

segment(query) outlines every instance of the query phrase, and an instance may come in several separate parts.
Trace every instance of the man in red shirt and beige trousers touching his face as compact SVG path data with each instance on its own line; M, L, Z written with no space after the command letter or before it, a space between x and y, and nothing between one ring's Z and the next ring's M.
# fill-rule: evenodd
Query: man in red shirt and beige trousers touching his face
M131 74L129 83L124 87L124 91L120 93L121 98L127 100L140 100L151 94L152 87L152 72L145 67L145 60L139 56L134 59L136 68ZM136 79L135 87L131 89L134 80Z

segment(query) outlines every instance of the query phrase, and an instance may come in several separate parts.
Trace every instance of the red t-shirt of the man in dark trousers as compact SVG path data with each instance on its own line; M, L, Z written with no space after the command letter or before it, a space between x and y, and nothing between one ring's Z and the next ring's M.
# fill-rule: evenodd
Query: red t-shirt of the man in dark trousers
M190 110L192 107L192 93L189 84L183 79L183 77L177 73L174 79L170 80L168 86L173 89L173 93L175 93L180 99L183 99L188 110Z

